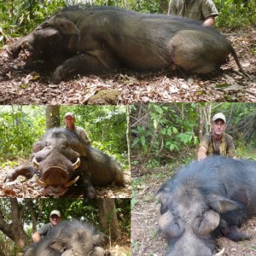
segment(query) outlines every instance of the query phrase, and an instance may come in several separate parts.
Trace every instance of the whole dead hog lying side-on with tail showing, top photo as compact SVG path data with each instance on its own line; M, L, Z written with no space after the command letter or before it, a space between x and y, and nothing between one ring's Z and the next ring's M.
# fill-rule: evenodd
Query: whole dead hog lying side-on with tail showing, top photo
M229 54L248 76L230 42L201 22L176 15L148 15L113 7L63 9L6 50L54 62L53 83L78 73L120 67L157 71L177 65L190 73L212 73Z

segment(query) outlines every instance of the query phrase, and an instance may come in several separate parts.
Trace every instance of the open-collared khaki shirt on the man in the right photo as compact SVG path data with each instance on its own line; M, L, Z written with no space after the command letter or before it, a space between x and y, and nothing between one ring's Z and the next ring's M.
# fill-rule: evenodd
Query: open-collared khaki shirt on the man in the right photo
M235 146L232 137L224 133L219 143L219 150L215 147L214 138L212 137L212 132L207 133L201 138L199 146L204 146L207 148L207 155L221 154L233 157L235 156Z

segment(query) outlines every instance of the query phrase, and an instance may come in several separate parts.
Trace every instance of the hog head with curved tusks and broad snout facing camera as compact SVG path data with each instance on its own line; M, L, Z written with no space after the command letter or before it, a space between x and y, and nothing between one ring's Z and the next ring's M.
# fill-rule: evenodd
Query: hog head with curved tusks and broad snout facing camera
M83 143L68 132L49 132L33 146L32 164L37 170L36 181L48 195L61 196L79 180L73 173L79 168L80 157L86 155Z

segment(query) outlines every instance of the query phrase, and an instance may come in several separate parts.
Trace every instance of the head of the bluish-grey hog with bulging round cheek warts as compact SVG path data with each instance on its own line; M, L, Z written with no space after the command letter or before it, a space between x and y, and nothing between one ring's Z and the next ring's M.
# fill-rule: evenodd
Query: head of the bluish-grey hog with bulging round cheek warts
M199 191L182 187L168 195L161 190L159 197L160 230L169 242L166 255L212 256L211 232L218 227L220 218L207 206Z

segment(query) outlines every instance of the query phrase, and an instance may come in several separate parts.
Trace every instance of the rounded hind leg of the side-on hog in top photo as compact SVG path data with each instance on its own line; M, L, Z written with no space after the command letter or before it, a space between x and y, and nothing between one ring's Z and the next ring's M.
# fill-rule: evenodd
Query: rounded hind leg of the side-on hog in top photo
M211 73L225 61L230 45L204 31L177 32L168 43L172 61L191 73Z

